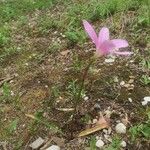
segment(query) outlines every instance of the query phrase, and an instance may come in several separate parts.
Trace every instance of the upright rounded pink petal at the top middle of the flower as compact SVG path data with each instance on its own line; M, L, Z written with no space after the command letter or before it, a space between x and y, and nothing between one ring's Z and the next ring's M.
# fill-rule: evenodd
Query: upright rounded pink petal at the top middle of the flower
M106 27L103 27L99 34L98 34L98 46L100 47L100 45L109 40L109 29Z

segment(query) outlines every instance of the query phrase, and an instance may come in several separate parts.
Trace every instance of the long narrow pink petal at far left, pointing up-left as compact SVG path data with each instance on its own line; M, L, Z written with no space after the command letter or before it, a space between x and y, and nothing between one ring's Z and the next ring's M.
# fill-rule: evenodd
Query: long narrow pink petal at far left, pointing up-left
M93 27L86 20L83 20L83 25L93 43L97 45L97 35Z

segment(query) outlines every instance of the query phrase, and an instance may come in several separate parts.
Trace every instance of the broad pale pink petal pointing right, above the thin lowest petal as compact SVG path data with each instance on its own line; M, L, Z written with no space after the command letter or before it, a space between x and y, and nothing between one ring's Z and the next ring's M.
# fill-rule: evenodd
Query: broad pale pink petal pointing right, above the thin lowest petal
M111 42L115 45L116 48L128 47L129 44L126 40L114 39Z

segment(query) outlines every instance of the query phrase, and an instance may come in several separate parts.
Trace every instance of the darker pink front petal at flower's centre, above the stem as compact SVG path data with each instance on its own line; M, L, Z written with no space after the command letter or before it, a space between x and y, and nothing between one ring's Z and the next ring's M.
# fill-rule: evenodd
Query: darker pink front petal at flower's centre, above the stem
M114 48L115 45L111 41L105 41L100 45L99 49L97 49L97 52L101 53L101 55L107 55L112 53Z

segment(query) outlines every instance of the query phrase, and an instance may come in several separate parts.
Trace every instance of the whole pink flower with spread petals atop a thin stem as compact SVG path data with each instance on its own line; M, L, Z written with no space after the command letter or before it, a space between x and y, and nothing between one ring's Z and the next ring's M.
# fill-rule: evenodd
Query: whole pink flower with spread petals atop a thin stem
M116 54L116 55L130 55L132 52L128 51L118 51L119 48L128 47L128 42L122 39L109 38L109 29L103 27L98 36L93 29L93 27L86 21L83 20L83 25L85 31L88 33L89 37L92 39L96 46L96 52L100 55Z

